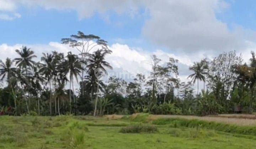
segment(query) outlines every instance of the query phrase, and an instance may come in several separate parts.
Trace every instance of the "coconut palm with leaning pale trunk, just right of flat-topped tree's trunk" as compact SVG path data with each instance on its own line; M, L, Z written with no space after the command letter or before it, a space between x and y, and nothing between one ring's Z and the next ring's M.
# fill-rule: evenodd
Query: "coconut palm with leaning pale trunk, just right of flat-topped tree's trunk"
M87 65L87 67L89 67L91 71L95 70L96 68L101 68L101 70L103 70L104 73L107 74L105 67L110 69L112 69L112 67L107 61L105 61L105 56L111 53L112 51L105 50L105 49L95 51L93 54L89 55L89 59L87 60L89 62L89 65ZM93 74L93 76L91 76L91 79L94 79L91 81L92 84L97 82L96 101L95 101L95 109L94 109L94 116L96 116L100 78L95 77Z

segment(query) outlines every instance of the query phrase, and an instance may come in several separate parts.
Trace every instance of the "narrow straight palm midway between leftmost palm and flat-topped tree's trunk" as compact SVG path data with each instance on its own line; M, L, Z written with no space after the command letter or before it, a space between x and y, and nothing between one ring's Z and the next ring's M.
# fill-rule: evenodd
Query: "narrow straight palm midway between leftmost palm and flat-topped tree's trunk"
M50 115L52 115L52 72L53 72L53 55L49 53L43 53L41 57L41 61L43 62L41 69L39 70L43 76L47 79L46 84L49 84L50 87Z

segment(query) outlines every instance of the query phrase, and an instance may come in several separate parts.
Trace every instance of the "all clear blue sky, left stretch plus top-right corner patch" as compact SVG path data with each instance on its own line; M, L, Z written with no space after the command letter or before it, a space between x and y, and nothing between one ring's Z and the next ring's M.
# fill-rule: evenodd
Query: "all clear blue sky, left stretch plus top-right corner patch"
M228 8L215 13L218 20L226 23L230 30L234 26L256 30L256 1L226 0L225 2ZM155 44L144 38L142 28L145 21L150 19L150 15L143 6L139 7L138 13L133 17L109 9L104 14L107 15L106 20L106 16L97 12L89 18L79 18L75 9L58 10L45 9L44 6L16 5L16 12L21 15L20 18L0 19L0 43L47 44L59 42L61 38L82 31L86 34L98 35L110 44L118 42L151 51L156 48L169 49L165 45Z

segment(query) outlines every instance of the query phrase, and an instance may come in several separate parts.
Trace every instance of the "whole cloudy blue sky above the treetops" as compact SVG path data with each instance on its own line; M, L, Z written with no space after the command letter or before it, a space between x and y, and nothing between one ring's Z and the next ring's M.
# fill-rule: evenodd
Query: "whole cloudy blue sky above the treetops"
M189 66L203 58L236 50L249 60L255 6L254 0L0 0L0 59L14 59L22 45L38 60L53 50L78 54L60 40L82 31L108 41L111 72L146 74L155 54L162 64L178 59L180 78L188 81Z

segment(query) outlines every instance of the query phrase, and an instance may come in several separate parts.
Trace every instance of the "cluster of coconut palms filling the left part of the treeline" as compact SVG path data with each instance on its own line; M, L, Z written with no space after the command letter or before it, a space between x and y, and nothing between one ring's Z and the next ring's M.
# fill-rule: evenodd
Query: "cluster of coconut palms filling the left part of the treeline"
M30 98L38 99L38 114L40 115L40 98L39 95L43 90L49 90L49 113L52 112L52 104L54 103L55 114L60 114L59 100L64 95L65 85L69 82L69 113L71 114L71 104L76 105L76 96L74 90L74 79L78 82L78 77L86 78L86 85L91 88L91 97L99 88L99 80L94 76L94 69L101 67L112 68L108 62L104 60L111 51L108 49L98 49L94 53L84 53L88 59L81 59L78 55L68 52L65 56L63 53L53 51L52 53L43 53L41 61L36 62L34 52L22 46L20 50L16 50L19 57L11 60L6 59L5 62L0 60L0 77L1 81L6 79L7 86L12 90L12 96L16 100L18 91L22 93L19 99L26 102L27 112L30 113ZM13 65L15 63L15 66ZM86 67L83 67L86 66ZM87 76L81 76L81 71L86 71ZM84 82L83 82L84 83ZM72 89L71 89L72 87ZM54 100L54 102L53 102ZM72 101L73 100L73 101ZM58 112L57 112L58 109ZM76 108L75 113L76 113Z

